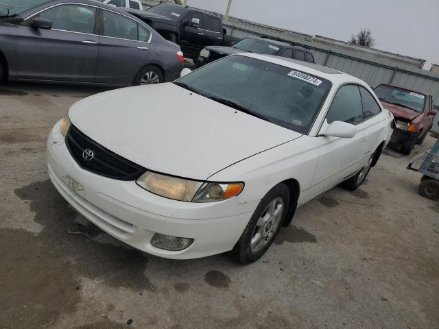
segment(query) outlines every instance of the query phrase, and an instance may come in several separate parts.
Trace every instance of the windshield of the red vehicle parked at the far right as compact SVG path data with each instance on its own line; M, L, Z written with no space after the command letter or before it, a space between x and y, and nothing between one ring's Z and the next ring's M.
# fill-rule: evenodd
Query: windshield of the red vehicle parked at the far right
M414 93L413 91L403 88L385 86L384 84L377 86L374 91L375 95L377 95L381 101L401 105L416 112L423 112L425 95Z

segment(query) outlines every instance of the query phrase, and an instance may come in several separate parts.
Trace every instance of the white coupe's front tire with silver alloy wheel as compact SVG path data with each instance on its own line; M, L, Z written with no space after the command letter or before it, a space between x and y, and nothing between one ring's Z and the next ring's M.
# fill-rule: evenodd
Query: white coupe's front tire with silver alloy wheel
M265 254L281 230L289 208L289 189L281 183L261 199L230 255L242 265Z

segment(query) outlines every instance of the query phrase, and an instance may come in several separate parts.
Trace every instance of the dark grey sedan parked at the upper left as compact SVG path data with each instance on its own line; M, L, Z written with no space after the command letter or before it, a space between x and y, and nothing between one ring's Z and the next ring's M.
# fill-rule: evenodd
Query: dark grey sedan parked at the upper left
M0 11L0 76L9 80L119 87L173 81L183 68L178 45L104 3L23 0Z

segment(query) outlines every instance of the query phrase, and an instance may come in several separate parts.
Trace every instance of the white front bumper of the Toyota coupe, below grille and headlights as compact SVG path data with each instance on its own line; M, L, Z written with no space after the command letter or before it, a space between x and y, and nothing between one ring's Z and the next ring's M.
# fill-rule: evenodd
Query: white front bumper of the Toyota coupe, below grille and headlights
M165 258L199 258L233 249L258 204L239 204L236 197L211 204L179 202L133 181L86 171L71 157L59 123L47 140L47 162L51 182L81 215L116 239ZM156 232L194 242L177 252L159 249L150 243Z

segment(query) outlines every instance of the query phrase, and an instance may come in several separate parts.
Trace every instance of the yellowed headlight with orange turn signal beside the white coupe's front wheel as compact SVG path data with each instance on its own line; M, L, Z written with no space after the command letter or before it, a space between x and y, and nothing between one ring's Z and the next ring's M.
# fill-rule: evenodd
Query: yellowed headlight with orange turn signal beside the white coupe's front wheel
M137 184L156 195L185 202L221 201L239 195L244 188L243 183L200 182L150 171L141 175Z

